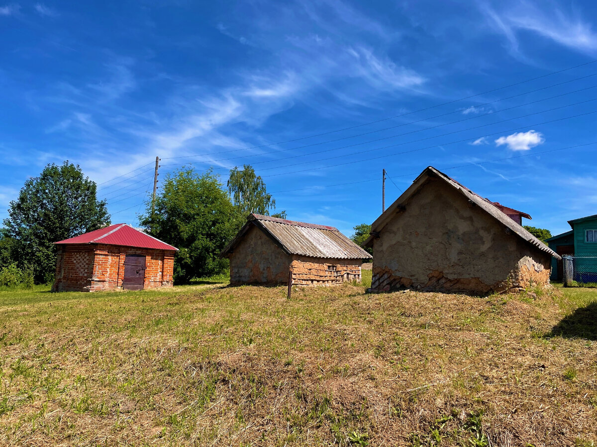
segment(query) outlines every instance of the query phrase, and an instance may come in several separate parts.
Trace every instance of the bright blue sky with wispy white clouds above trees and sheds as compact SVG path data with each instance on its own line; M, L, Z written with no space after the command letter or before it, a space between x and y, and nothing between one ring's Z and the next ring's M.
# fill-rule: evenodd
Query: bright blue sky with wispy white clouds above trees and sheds
M0 217L70 160L137 224L159 156L160 178L252 164L288 218L346 234L380 214L382 169L389 205L429 165L567 231L597 213L596 10L0 2Z

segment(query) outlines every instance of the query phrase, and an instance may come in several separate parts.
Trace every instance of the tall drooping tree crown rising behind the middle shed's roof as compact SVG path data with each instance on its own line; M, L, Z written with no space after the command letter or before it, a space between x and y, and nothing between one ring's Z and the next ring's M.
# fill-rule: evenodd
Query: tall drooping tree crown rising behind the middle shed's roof
M231 169L227 187L233 205L243 218L250 213L269 216L270 210L276 209L275 198L267 193L265 182L250 164ZM285 219L286 212L275 213L273 217Z

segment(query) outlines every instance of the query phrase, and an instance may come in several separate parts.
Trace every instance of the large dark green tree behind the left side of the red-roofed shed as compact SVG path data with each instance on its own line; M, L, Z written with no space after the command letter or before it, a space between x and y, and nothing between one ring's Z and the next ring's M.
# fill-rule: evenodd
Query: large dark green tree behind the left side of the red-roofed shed
M54 274L54 242L110 224L106 202L97 200L96 183L68 161L48 164L27 180L8 216L4 236L13 238L19 265L33 266L36 281L49 281Z

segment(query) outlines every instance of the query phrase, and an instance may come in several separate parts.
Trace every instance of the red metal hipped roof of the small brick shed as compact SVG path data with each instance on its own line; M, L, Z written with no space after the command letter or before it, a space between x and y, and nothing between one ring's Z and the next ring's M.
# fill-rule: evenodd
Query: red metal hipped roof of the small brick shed
M178 250L128 224L114 224L96 229L55 244L107 244L141 249Z

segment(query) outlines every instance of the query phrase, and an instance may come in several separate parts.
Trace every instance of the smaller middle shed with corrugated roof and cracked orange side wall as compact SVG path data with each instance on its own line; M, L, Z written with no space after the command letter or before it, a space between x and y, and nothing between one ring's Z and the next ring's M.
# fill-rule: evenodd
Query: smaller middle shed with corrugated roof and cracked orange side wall
M333 285L361 281L371 255L333 226L251 214L223 250L230 284Z

